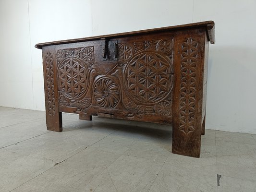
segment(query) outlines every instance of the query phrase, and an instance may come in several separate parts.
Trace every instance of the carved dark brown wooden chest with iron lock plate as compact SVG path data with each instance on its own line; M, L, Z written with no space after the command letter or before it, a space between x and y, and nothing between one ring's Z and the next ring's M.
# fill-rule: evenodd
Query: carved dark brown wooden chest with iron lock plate
M62 131L61 112L172 124L172 153L199 157L208 41L211 21L37 44L47 129Z

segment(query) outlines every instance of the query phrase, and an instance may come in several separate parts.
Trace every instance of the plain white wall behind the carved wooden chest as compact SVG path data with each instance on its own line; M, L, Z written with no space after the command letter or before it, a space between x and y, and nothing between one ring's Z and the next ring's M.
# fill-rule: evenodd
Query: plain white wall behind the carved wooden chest
M38 42L213 20L206 127L256 134L255 10L256 0L0 0L0 106L44 110Z

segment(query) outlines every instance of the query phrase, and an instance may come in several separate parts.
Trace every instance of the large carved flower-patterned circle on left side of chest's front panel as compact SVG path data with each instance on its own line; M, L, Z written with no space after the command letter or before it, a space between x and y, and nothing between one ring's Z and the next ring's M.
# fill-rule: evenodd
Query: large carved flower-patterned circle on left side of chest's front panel
M68 98L82 96L89 85L88 70L83 61L70 57L63 60L58 68L59 89Z

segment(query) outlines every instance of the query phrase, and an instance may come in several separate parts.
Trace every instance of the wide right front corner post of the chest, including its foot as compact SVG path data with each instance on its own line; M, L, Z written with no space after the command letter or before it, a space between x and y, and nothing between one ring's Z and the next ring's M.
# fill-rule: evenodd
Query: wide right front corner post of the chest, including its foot
M199 157L206 32L187 29L175 36L172 153Z

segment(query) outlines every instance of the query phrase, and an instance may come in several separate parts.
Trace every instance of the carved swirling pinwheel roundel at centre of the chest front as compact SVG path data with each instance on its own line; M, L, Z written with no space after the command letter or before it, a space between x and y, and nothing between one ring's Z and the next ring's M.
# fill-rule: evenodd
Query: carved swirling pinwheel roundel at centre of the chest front
M99 106L113 108L120 100L118 85L108 77L99 78L94 84L93 95Z

